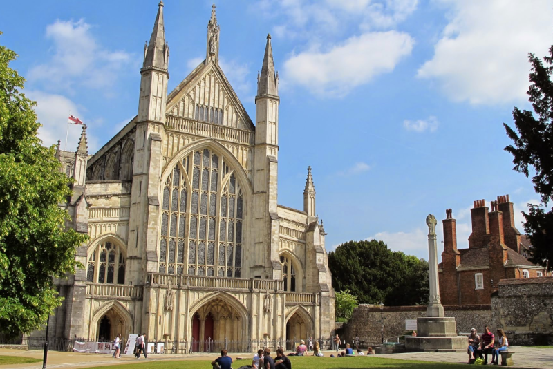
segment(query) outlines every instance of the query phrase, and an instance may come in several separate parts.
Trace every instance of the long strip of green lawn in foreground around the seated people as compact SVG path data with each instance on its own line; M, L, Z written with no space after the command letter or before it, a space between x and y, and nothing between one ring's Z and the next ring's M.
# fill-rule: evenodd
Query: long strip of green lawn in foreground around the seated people
M245 356L245 355L244 355ZM231 356L232 357L232 356ZM215 356L214 356L215 358ZM399 359L380 358L375 356L370 357L290 357L292 361L292 369L355 369L355 368L385 368L385 369L467 369L466 364L458 363L431 363L427 361L409 361ZM117 369L207 369L211 361L207 360L178 360L178 361L151 361L140 360L140 363L133 362L126 365L118 365ZM241 366L250 365L252 361L248 358L245 360L234 361L232 368L238 369ZM94 368L102 368L97 366ZM93 368L89 368L93 369Z

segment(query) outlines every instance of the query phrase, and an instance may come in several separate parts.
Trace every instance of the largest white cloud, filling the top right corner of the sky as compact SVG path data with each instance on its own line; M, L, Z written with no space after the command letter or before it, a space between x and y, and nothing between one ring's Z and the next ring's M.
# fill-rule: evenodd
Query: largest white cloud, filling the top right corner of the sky
M438 82L453 101L500 104L527 100L527 53L545 55L553 6L534 0L442 0L451 15L432 59L418 77Z

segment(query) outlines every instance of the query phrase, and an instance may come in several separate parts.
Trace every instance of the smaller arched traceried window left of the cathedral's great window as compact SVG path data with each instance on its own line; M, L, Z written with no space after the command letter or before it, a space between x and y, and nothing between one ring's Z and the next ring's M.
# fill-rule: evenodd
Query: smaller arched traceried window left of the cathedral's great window
M125 259L124 250L118 244L111 241L99 243L88 255L86 281L124 284Z

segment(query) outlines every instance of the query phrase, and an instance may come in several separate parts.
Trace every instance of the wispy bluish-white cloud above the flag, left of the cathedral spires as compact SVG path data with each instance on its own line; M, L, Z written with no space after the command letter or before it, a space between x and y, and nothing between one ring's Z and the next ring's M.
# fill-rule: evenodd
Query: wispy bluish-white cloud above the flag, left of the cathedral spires
M59 91L83 85L88 88L112 86L131 56L124 51L105 50L91 34L84 19L60 21L46 27L46 39L53 41L50 60L32 68L30 82L44 82Z

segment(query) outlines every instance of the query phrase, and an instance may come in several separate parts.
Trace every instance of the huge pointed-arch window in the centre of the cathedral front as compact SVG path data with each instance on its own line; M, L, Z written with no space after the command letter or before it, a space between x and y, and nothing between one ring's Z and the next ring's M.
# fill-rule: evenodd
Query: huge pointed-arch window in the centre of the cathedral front
M240 277L243 209L229 165L209 149L190 153L163 189L159 272Z

